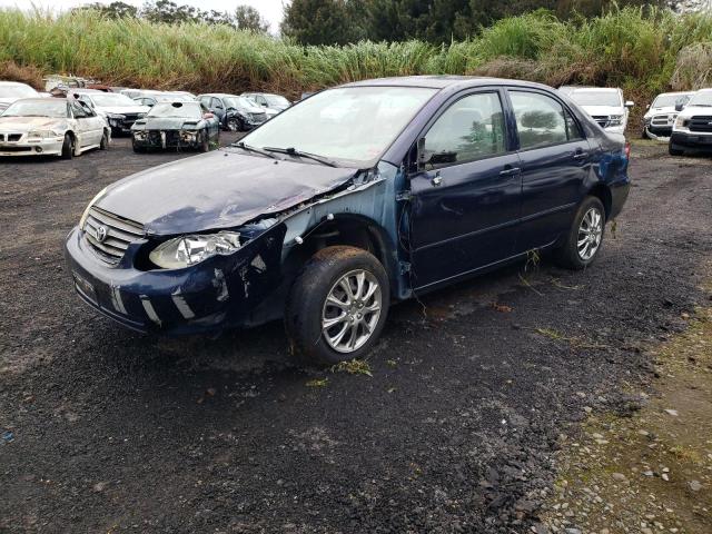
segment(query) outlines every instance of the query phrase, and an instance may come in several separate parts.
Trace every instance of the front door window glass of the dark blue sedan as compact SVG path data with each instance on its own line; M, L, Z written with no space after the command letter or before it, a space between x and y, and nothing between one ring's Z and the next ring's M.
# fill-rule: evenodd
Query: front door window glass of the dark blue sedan
M506 152L500 95L481 92L453 103L425 135L424 152L432 168Z

